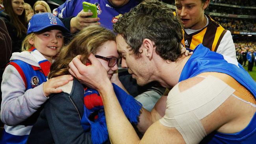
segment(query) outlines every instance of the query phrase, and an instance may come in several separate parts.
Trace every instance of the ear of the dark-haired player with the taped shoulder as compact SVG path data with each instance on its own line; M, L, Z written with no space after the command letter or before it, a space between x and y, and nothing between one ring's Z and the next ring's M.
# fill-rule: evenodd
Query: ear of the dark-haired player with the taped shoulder
M155 42L151 41L150 39L144 39L142 45L146 56L149 60L151 60L155 49Z

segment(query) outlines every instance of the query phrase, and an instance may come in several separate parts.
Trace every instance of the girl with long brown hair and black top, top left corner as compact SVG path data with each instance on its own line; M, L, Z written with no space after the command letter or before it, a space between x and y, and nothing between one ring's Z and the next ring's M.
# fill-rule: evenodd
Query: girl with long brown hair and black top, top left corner
M26 36L27 20L24 0L3 0L4 11L0 17L4 20L12 42L12 53L20 52L21 43Z

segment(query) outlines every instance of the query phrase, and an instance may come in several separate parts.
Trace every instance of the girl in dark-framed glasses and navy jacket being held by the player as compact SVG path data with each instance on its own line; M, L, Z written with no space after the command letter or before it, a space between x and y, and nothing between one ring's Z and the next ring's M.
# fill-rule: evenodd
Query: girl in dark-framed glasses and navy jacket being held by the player
M50 68L49 79L69 74L69 63L79 55L84 65L91 65L90 54L100 61L113 83L119 102L130 122L137 123L141 104L128 95L118 79L119 54L115 34L98 25L81 30L64 46ZM118 85L118 86L117 86ZM45 103L28 144L101 144L109 143L103 102L100 94L74 79L59 87L63 92L52 94ZM124 89L124 88L123 88Z

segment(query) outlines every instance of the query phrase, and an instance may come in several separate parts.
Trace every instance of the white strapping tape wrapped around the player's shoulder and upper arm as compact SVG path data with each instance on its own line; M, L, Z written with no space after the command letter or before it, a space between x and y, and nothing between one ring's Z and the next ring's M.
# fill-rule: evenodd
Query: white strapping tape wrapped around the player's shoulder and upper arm
M168 94L165 116L160 122L164 126L175 127L187 144L197 144L206 136L200 120L217 109L234 91L213 76L183 92L177 84Z

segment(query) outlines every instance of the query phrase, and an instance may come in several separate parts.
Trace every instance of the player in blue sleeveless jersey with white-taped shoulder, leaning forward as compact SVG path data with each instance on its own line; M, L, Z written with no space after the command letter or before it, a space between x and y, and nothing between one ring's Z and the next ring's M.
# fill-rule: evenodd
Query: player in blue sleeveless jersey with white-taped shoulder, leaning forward
M122 143L255 143L256 83L233 58L199 44L193 55L181 54L182 27L157 0L141 2L119 18L113 30L122 67L138 85L158 81L172 88L149 113L141 110L140 140L124 115L100 62L80 56L69 72L98 90L104 103L110 141Z

